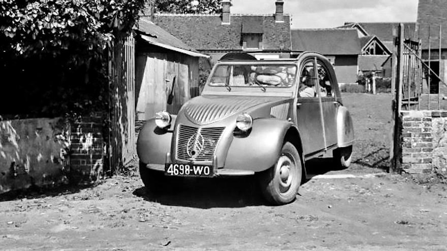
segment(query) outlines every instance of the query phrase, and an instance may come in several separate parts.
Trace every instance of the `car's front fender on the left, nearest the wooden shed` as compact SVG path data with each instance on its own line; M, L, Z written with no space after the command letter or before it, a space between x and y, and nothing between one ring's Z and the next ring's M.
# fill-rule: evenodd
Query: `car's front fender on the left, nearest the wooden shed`
M176 115L171 115L172 122L168 129L158 128L155 119L149 119L141 128L137 140L137 154L140 162L145 164L165 164L166 153L171 151L171 140Z

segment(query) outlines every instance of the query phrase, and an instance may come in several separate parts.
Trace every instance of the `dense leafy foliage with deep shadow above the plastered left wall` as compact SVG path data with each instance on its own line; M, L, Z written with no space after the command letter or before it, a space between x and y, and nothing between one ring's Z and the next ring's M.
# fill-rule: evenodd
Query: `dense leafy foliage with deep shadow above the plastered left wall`
M103 110L105 49L130 34L143 5L144 0L0 0L0 74L10 94L0 100L0 114Z

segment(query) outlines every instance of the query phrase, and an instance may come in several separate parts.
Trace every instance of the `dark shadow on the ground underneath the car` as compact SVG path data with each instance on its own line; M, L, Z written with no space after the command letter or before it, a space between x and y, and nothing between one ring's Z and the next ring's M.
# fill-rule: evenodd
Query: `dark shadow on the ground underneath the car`
M316 158L306 163L308 178L334 170L332 158ZM169 206L195 208L269 206L258 186L257 176L184 178L168 191L154 193L145 187L136 189L133 194L146 201ZM297 195L300 196L300 195Z

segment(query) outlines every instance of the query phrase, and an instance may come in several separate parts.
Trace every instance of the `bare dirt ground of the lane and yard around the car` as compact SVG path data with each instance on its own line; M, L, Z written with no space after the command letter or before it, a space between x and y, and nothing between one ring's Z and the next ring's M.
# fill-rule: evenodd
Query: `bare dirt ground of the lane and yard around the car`
M291 204L267 205L253 177L186 180L159 195L131 171L0 197L1 249L447 250L447 186L384 172L390 95L344 97L354 163L334 171L329 158L309 162Z

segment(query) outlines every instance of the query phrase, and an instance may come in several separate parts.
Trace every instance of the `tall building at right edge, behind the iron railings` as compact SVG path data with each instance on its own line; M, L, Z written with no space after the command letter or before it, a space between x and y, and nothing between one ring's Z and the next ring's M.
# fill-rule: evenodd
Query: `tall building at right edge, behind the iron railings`
M430 62L431 69L443 79L447 80L447 6L443 0L420 0L418 5L419 37L422 40L422 58L425 63ZM439 46L439 33L441 45ZM431 37L429 50L429 34ZM439 50L441 55L439 57ZM430 57L429 57L430 51ZM430 90L437 93L439 79L432 77ZM441 88L445 88L441 85ZM447 90L441 90L446 94Z

